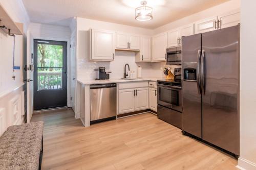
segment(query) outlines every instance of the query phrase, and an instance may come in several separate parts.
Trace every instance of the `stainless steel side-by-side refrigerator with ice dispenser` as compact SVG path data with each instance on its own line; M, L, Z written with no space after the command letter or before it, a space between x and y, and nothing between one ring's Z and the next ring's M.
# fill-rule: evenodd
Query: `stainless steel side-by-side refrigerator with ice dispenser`
M240 25L182 37L182 130L239 155Z

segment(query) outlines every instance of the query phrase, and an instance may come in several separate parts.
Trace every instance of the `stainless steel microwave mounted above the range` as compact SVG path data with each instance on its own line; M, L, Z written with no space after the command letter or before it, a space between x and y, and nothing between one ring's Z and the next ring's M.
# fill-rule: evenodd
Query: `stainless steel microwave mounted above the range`
M181 65L181 46L166 49L166 64Z

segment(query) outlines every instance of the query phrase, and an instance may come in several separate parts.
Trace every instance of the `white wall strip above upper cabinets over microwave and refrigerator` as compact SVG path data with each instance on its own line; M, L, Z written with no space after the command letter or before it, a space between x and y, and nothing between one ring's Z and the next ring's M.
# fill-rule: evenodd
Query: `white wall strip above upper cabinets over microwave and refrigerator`
M189 23L193 23L198 20L202 20L202 19L205 19L208 17L217 16L218 14L222 14L225 12L239 9L240 4L241 4L240 0L227 1L223 4L208 8L208 9L198 12L196 14L189 15L187 17L181 18L174 22L167 23L164 26L154 29L154 34L166 32L168 30L175 29L175 28L178 28L181 26L185 26L185 25L188 25Z

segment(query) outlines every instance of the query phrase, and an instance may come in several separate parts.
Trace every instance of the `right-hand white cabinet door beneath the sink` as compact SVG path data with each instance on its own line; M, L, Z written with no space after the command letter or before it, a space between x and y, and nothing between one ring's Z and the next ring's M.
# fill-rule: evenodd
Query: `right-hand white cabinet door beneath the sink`
M148 109L148 88L135 89L134 111Z

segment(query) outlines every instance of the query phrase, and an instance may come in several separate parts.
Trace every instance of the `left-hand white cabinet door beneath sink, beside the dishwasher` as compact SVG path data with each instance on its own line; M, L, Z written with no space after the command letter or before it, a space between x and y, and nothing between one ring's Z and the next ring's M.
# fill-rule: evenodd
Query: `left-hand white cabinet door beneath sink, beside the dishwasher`
M135 89L122 89L118 94L118 113L127 113L134 111Z

